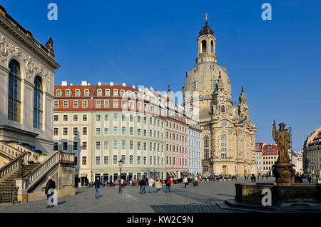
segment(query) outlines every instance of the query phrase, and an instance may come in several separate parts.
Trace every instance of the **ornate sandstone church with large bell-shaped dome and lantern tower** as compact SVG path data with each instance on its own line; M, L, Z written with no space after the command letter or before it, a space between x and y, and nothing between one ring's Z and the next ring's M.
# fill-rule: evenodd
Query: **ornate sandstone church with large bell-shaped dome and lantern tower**
M255 124L242 88L238 105L233 102L226 67L217 63L215 36L205 26L198 36L196 65L186 72L183 85L185 110L200 121L203 176L256 173Z

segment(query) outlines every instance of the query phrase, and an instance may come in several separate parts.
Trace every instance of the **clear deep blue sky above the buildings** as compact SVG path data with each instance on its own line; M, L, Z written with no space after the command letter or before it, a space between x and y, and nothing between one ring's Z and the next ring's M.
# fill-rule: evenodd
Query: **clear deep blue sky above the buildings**
M58 21L47 5L58 5ZM261 5L272 5L263 21ZM321 126L321 1L1 0L6 11L45 44L54 39L56 84L126 82L173 91L195 66L196 38L214 31L218 64L227 66L233 100L241 86L258 128L272 143L273 119L292 126L293 149Z

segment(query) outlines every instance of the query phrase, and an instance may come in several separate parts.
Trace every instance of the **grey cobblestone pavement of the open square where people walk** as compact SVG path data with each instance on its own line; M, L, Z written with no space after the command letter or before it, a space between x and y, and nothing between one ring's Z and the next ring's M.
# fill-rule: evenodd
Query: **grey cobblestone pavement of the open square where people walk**
M274 178L257 182L272 182ZM250 181L247 181L250 182ZM4 212L107 212L107 213L226 213L240 212L223 210L216 203L234 198L234 183L240 181L200 182L200 186L190 185L184 188L183 183L171 187L171 193L139 194L139 186L126 187L123 194L118 195L118 188L101 188L100 198L95 198L94 188L77 188L76 196L58 198L58 206L46 208L46 201L31 203L0 205L0 213ZM147 189L147 188L146 188Z

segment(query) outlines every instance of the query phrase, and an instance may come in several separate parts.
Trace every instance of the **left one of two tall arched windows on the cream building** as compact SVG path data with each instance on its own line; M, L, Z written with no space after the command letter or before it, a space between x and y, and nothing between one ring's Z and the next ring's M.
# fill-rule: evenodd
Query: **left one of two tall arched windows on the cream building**
M11 60L9 63L9 95L8 95L8 119L20 122L20 66L18 61Z

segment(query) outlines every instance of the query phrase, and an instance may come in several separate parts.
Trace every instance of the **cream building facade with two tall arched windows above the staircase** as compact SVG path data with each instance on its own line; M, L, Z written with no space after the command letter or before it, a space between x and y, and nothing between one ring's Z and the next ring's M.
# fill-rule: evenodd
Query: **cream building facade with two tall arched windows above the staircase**
M0 141L53 152L54 57L0 6Z

